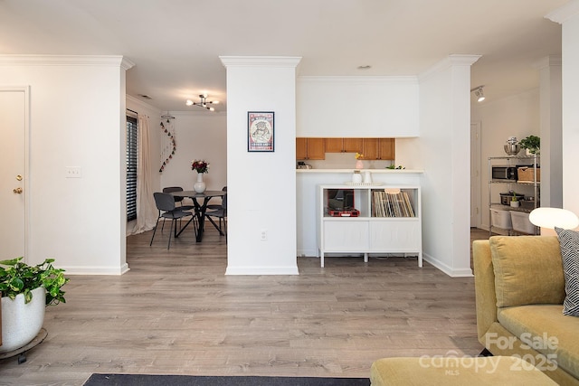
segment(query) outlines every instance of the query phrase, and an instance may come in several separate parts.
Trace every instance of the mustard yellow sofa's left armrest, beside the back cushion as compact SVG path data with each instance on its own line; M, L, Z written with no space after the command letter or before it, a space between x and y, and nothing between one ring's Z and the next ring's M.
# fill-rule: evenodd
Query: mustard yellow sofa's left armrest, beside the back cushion
M477 332L479 342L485 345L485 334L490 325L497 322L497 295L495 272L490 258L489 240L472 243L472 262L477 306Z

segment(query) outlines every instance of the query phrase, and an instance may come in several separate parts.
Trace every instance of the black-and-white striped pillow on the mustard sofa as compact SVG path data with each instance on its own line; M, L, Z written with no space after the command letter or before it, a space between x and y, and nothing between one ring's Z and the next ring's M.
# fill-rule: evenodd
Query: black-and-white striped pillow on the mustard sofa
M579 316L579 232L556 228L565 273L563 315Z

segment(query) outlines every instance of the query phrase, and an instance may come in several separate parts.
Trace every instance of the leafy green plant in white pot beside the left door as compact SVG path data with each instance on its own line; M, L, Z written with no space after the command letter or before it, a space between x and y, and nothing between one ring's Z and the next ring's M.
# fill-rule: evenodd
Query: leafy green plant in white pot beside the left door
M66 303L64 269L54 268L54 259L29 266L23 258L0 261L2 292L2 345L0 353L29 344L40 332L46 306Z

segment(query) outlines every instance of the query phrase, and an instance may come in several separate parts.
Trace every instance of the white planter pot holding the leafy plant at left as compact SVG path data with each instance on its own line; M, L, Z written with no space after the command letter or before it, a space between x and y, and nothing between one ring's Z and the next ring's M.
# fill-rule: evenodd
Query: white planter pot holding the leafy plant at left
M2 345L0 353L7 353L32 342L43 328L46 292L44 287L33 289L33 299L24 304L24 295L14 300L2 297Z

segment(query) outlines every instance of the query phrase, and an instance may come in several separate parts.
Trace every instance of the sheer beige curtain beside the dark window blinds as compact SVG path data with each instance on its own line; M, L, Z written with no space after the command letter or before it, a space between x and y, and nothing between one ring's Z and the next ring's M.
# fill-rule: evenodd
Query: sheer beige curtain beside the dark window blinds
M137 221L131 234L152 230L157 220L148 140L148 117L138 114Z

